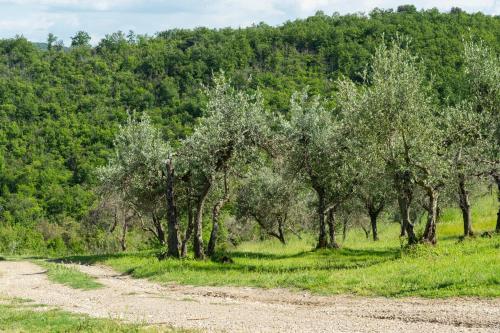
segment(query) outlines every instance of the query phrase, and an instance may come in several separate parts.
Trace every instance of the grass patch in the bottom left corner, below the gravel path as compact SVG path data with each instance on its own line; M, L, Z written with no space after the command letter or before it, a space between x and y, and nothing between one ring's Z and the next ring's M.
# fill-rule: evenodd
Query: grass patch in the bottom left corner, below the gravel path
M59 310L44 311L29 300L0 299L0 332L187 332L124 324Z

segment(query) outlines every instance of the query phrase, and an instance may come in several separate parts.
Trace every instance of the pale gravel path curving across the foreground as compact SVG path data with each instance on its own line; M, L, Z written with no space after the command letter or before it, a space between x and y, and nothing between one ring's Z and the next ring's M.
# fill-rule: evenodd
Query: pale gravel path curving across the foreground
M30 262L0 261L0 295L130 322L209 332L500 332L500 299L322 297L286 290L159 285L103 266L72 265L105 285L48 281Z

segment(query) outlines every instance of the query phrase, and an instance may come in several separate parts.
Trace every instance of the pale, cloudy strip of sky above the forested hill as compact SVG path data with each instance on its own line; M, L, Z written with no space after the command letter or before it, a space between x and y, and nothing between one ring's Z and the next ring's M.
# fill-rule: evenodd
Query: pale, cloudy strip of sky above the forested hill
M0 38L23 35L45 41L52 32L68 44L76 31L84 30L95 44L118 30L152 35L171 28L277 25L318 10L327 15L366 13L401 4L500 15L500 0L0 0Z

